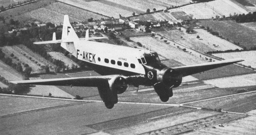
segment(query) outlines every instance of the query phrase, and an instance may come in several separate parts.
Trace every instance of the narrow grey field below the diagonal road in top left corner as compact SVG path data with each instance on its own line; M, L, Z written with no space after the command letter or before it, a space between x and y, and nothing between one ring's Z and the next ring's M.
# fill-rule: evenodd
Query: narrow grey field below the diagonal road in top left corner
M10 18L13 18L14 20L19 20L20 22L23 22L23 21L32 19L32 18L28 18L27 16L23 16L23 14L33 11L33 10L36 10L36 9L40 9L40 8L50 5L54 2L55 2L55 0L39 0L36 2L32 2L31 4L28 4L28 5L15 7L13 9L9 9L7 11L1 12L0 16L4 16L4 18L7 19L6 22L8 22ZM12 17L10 17L10 16L12 16Z

